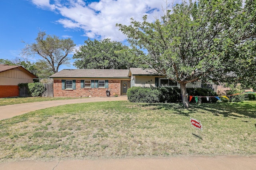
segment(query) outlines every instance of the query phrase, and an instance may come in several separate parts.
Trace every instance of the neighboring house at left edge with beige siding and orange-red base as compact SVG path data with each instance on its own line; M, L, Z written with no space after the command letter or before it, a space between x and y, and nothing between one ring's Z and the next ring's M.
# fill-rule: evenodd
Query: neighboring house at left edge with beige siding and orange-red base
M0 98L19 96L19 83L31 83L37 78L22 66L0 64Z

